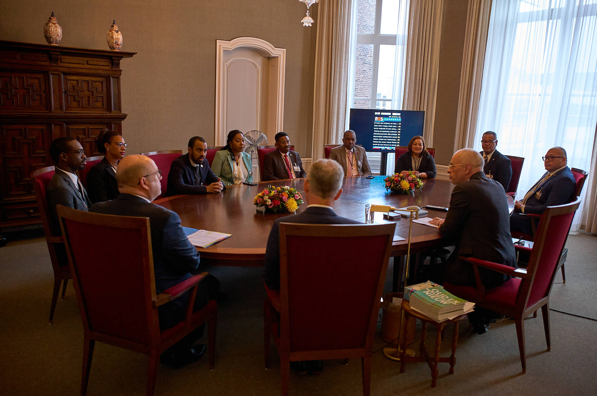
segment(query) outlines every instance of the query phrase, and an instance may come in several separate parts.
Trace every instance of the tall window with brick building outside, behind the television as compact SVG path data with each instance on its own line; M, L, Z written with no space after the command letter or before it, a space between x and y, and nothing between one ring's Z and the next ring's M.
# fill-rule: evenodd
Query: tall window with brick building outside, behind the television
M409 0L353 1L346 128L349 109L401 108L408 4ZM371 170L378 173L380 154L367 156ZM394 156L390 154L387 172L393 169Z

